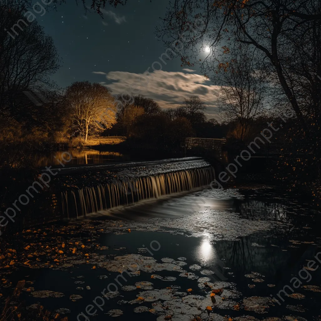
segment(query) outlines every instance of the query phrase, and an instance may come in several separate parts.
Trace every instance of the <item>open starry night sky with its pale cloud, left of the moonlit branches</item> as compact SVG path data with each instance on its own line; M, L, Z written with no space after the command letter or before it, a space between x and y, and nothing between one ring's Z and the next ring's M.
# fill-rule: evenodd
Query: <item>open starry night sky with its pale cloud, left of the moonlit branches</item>
M155 26L167 5L167 0L131 0L117 8L106 5L102 19L69 0L42 17L35 14L62 58L62 67L52 79L60 87L75 81L100 82L117 94L130 92L131 84L150 67L148 86L139 93L163 108L176 107L184 98L197 95L208 106L207 117L215 117L219 87L206 80L197 67L181 67L179 58L165 60L164 56L167 65L159 59L166 48L156 38ZM161 71L153 72L154 61L161 63Z

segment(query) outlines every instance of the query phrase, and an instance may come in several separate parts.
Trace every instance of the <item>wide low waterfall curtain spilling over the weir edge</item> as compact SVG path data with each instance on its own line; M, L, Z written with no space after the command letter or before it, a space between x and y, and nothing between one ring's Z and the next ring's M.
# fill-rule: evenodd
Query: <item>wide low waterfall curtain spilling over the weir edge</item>
M84 187L61 193L63 216L66 218L85 217L119 205L159 198L196 187L209 185L215 178L211 166L185 169L140 178L113 180L107 184Z

